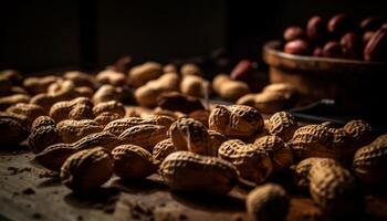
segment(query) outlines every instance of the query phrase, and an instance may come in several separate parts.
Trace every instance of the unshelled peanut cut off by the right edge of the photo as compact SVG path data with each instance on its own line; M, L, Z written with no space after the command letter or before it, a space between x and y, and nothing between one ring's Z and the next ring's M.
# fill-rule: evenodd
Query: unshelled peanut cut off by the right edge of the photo
M354 156L353 169L363 182L384 181L387 178L387 135L381 135L359 148Z

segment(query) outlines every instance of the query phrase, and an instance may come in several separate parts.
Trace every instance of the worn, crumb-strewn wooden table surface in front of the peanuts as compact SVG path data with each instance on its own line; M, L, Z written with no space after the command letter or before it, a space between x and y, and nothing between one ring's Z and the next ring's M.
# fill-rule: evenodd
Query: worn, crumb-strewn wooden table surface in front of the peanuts
M124 182L113 177L102 189L76 196L33 161L29 151L0 151L0 220L245 220L247 190L211 197L174 193L154 175ZM307 194L292 194L286 220L321 220ZM387 220L387 198L366 197L363 220Z

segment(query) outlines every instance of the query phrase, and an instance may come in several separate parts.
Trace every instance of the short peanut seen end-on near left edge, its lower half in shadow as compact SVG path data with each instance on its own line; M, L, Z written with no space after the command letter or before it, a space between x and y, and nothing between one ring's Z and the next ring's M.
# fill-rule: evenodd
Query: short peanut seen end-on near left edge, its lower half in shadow
M34 154L61 141L62 138L55 127L55 122L51 117L40 116L33 122L28 144Z

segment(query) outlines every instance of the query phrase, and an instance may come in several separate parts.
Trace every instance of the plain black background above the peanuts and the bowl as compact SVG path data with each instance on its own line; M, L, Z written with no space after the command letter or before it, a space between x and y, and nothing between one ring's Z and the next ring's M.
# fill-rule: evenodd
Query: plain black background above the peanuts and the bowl
M208 55L261 61L265 41L307 18L386 17L384 1L77 0L1 1L0 70L96 70L121 55L136 63Z

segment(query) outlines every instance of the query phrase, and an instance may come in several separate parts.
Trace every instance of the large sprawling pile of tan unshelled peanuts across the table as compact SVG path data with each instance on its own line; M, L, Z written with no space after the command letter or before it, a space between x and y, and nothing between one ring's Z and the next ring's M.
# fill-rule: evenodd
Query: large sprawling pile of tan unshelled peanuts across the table
M95 77L69 72L23 78L3 72L0 144L12 148L27 141L35 160L75 192L95 190L113 173L122 179L158 173L181 192L228 194L248 185L254 187L245 200L252 220L281 220L289 212L285 189L268 182L279 172L291 172L294 186L307 189L327 215L357 211L359 187L387 178L387 135L375 139L366 122L301 126L286 112L263 119L245 105L205 108L186 96L209 91L200 70L186 65L181 75L175 72L156 63L135 66L128 76L114 70ZM140 105L158 107L129 112L122 103L127 81L137 86ZM179 87L186 95L157 98Z

